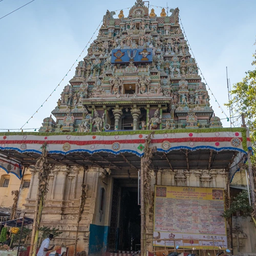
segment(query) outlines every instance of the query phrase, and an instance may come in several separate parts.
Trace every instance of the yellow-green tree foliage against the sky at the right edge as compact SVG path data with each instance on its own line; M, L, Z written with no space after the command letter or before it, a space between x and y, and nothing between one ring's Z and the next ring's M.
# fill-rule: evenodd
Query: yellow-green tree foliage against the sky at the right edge
M256 42L255 42L256 44ZM255 45L254 44L254 45ZM250 130L252 148L256 150L256 51L252 55L253 70L245 72L246 76L241 82L233 85L231 95L233 98L226 104L233 111L244 114L246 124ZM256 157L253 158L254 163Z

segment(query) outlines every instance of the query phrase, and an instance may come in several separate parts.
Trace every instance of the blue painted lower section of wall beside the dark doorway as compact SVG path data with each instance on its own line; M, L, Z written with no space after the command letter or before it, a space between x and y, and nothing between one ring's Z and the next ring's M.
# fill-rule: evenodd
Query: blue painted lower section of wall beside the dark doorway
M108 246L109 226L90 225L89 254L105 252Z

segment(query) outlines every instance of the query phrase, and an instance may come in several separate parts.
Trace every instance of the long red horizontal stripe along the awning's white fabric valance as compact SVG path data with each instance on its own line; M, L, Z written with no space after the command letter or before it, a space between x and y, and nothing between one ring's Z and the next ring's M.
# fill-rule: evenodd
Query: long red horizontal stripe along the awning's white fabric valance
M188 138L163 138L163 139L152 139L152 143L162 143L163 141L169 141L171 143L178 143L178 142L229 142L232 138L230 137L188 137ZM243 138L239 138L241 141L243 141ZM47 142L47 144L74 144L74 145L91 145L91 144L105 144L110 145L115 142L119 142L121 144L143 144L145 142L144 139L135 139L135 140L1 140L0 144L43 144Z

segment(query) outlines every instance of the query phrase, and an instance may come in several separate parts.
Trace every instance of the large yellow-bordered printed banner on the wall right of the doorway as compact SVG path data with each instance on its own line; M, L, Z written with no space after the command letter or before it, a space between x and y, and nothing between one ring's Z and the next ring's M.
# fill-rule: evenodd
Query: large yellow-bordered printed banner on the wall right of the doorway
M224 190L155 186L154 245L227 248Z

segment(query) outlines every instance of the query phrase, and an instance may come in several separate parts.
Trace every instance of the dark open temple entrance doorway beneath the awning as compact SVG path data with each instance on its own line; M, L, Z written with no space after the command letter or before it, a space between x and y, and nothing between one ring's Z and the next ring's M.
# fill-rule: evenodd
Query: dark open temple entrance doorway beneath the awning
M137 179L114 179L109 251L140 249L140 218Z

